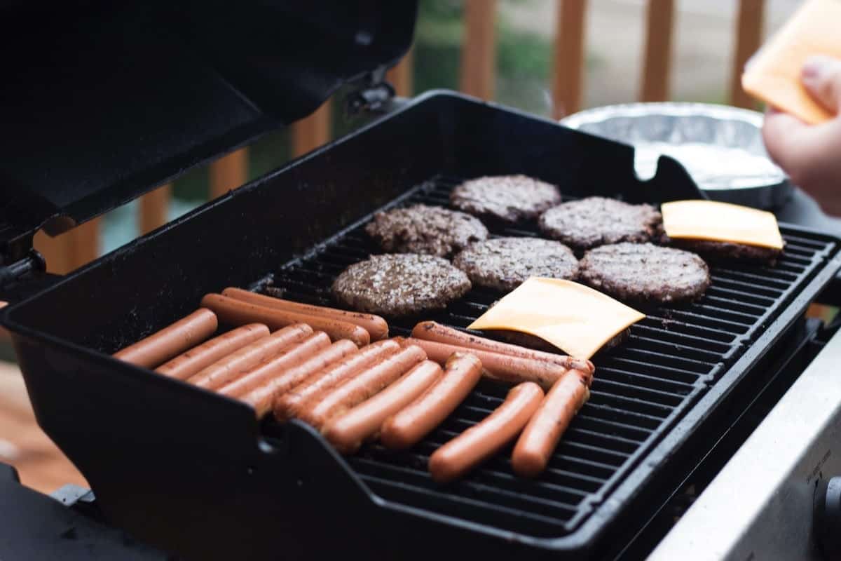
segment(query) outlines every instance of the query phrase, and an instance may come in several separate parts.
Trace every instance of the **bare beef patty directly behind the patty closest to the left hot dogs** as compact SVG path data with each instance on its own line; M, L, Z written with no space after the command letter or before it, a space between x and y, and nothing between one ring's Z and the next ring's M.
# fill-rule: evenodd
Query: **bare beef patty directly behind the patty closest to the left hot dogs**
M378 212L365 226L365 231L383 251L426 253L438 257L449 257L472 241L488 237L488 229L478 218L426 204Z

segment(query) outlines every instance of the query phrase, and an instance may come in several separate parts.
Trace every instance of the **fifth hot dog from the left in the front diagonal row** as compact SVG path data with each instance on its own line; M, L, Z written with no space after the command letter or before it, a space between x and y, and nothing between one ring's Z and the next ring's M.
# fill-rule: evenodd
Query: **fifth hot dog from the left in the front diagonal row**
M354 352L359 352L359 349L352 341L347 341L346 339L336 341L325 350L316 352L315 355L310 356L303 363L291 368L275 370L276 374L268 378L265 383L254 387L246 393L238 393L237 395L239 395L241 400L254 407L254 410L257 411L257 417L262 417L272 410L272 401L276 396L300 384L302 380L311 374L330 366L332 363Z

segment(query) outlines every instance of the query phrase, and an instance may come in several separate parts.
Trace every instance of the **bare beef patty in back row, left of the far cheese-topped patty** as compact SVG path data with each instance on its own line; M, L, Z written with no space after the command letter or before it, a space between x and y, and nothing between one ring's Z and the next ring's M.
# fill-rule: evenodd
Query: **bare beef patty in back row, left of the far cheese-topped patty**
M538 221L544 234L579 250L621 241L651 241L662 224L663 217L650 204L604 197L558 204Z

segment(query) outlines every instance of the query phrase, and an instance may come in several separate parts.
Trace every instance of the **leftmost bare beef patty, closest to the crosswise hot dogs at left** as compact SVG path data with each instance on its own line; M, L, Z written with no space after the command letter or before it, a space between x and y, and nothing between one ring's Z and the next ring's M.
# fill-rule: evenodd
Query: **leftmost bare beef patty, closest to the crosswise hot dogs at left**
M442 310L470 289L470 279L442 257L377 255L347 267L333 282L336 299L351 310L415 315Z

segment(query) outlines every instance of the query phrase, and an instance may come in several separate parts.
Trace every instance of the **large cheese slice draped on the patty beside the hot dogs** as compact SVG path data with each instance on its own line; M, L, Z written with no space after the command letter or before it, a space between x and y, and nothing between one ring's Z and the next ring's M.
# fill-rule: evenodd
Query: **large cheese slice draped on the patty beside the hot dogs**
M644 317L583 284L532 277L468 327L522 331L549 341L571 357L590 358Z

